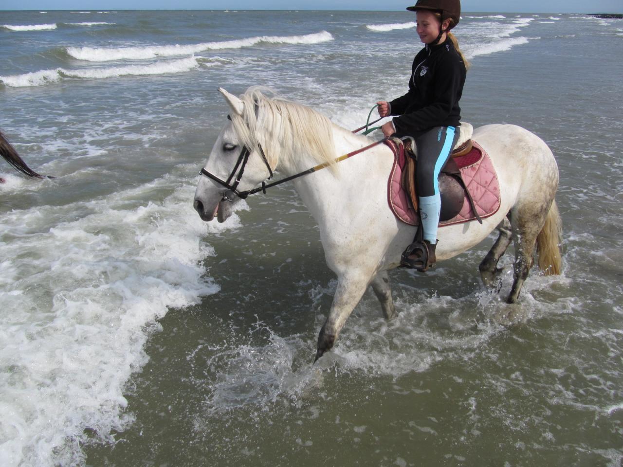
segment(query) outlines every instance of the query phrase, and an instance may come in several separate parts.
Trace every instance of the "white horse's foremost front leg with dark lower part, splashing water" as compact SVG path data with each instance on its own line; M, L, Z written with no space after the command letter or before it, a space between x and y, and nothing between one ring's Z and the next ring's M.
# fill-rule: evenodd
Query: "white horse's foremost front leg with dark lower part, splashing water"
M346 323L346 319L353 313L354 307L359 303L361 296L368 288L369 282L370 276L366 277L363 274L356 275L350 273L338 278L338 286L335 296L333 296L333 303L331 303L331 311L322 329L320 329L318 350L316 351L314 362L323 356L325 352L331 350L333 344L338 339L340 330Z

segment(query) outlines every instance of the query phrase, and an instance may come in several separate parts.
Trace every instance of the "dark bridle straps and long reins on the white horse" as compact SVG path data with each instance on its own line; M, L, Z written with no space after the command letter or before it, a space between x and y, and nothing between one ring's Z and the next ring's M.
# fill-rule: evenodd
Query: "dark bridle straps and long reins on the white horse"
M377 107L376 105L373 106L373 108L368 113L368 120L366 120L366 125L362 126L361 128L358 128L357 130L353 130L352 133L358 133L359 131L361 131L361 130L363 130L365 128L366 131L364 131L362 134L368 134L368 133L371 133L374 130L378 130L379 128L381 128L380 126L376 126L374 128L370 128L368 130L368 126L370 126L373 123L376 123L379 120L383 119L383 117L381 117L381 118L378 118L377 120L374 120L372 122L369 121L370 120L370 115L372 115L372 112L373 112L373 110L376 107ZM227 115L227 118L229 118L229 120L231 120L231 117L229 115ZM338 163L338 162L341 162L341 161L345 161L346 159L348 159L348 158L350 158L352 156L355 156L356 154L363 153L363 151L366 151L367 149L373 148L374 146L377 146L378 144L384 143L387 140L388 140L388 138L380 139L379 141L375 141L372 144L368 144L368 146L364 146L361 149L356 149L355 151L351 151L350 153L346 153L343 156L340 156L339 158L335 158L331 162L325 162L325 163L322 163L322 164L318 164L317 166L310 167L309 169L307 169L307 170L305 170L303 172L298 172L298 174L294 174L294 175L291 175L289 177L285 177L285 178L283 178L281 180L278 180L276 182L272 182L272 183L266 184L265 181L263 181L261 187L257 187L257 188L251 189L251 190L245 190L245 191L237 190L238 184L240 183L240 179L242 179L242 174L244 174L244 169L247 166L247 162L249 162L249 156L251 154L249 149L247 148L247 146L242 146L242 151L240 151L240 155L238 156L238 160L235 163L234 169L232 170L231 174L229 174L229 177L227 177L227 180L220 179L216 175L211 174L210 172L208 172L203 167L202 167L201 171L199 172L199 175L200 176L201 175L205 175L209 179L212 179L215 182L217 182L218 184L226 187L227 191L224 192L222 200L227 200L229 202L234 202L235 201L234 196L236 196L236 197L238 197L240 199L245 199L249 195L252 195L252 194L255 194L255 193L259 193L260 191L262 193L266 194L266 189L267 188L272 188L273 186L277 186L277 185L280 185L282 183L289 182L291 180L297 179L298 177L302 177L302 176L305 176L305 175L308 175L308 174L312 174L313 172L325 169L326 167L330 166L333 163ZM264 164L266 165L267 169L269 169L270 176L267 178L267 180L270 180L273 177L273 171L270 168L270 164L269 164L268 159L266 158L266 154L264 153L264 149L262 149L262 144L257 143L257 147L260 150L260 155L262 156L262 161L264 161ZM237 172L237 174L236 174L236 172ZM235 178L234 178L234 176L235 176ZM233 184L231 183L232 179L234 179L234 183Z

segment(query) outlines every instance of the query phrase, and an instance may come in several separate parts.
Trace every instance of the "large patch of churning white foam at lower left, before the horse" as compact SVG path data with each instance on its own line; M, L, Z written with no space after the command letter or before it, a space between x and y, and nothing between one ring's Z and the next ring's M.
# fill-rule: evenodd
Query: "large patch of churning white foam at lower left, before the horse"
M16 238L0 255L20 257L0 262L11 278L0 309L13 310L0 314L0 465L83 465L85 430L112 441L132 422L123 391L148 360L156 320L219 290L203 266L214 252L200 240L194 187L170 178L0 216ZM169 187L162 201L128 207ZM214 228L236 225L234 214Z

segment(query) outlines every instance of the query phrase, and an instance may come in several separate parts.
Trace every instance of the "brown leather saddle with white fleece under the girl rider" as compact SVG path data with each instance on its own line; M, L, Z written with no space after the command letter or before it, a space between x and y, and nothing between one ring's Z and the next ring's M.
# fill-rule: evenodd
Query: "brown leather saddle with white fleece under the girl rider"
M441 194L441 211L439 220L449 220L455 217L463 207L464 198L467 198L476 219L482 224L482 219L478 215L478 211L472 199L472 195L465 186L463 177L459 170L459 166L455 162L455 158L462 158L469 154L473 148L473 140L471 139L473 128L471 125L464 124L465 128L459 136L457 145L452 150L447 163L441 169L439 174L439 192ZM396 139L396 138L394 138ZM398 141L394 141L398 143ZM416 161L417 154L414 151L415 141L413 138L404 138L399 140L399 144L404 145L405 166L402 171L401 185L411 201L413 209L417 212L417 186L416 186Z

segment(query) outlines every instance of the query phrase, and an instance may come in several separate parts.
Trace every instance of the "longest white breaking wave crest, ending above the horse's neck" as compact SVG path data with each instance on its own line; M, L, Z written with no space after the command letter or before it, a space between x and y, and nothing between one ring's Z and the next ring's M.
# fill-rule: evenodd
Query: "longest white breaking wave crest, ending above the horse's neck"
M151 45L146 47L67 47L67 54L87 62L110 62L113 60L148 60L155 57L197 54L205 50L242 49L257 44L320 44L333 40L333 35L322 31L307 35L262 35L248 39L202 42L188 45Z

